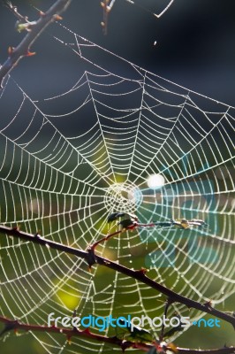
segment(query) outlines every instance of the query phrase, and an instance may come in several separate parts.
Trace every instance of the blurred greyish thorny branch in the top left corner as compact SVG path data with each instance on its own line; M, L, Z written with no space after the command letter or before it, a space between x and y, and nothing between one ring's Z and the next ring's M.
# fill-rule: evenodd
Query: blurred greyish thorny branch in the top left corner
M19 21L26 21L27 26L25 26L25 28L27 29L27 35L16 48L10 47L9 57L0 67L0 89L3 89L4 77L11 72L14 66L18 64L19 60L34 54L30 52L30 47L32 44L51 22L58 19L58 15L66 10L71 1L72 0L57 0L57 2L53 4L47 12L41 12L41 17L34 22L29 22L27 17L19 14L16 7L14 7L11 3L8 3L8 7L11 12L18 17Z

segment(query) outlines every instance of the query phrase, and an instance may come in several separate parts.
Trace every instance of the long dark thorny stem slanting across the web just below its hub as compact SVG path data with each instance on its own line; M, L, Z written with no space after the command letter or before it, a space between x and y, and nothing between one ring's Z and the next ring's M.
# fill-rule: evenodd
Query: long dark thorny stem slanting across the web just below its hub
M106 266L112 270L115 270L119 273L123 273L137 281L140 281L142 283L145 283L148 285L149 288L155 289L162 293L163 295L168 297L168 301L171 301L171 303L180 303L180 304L185 304L188 308L194 308L197 310L200 310L201 312L206 312L209 313L212 316L215 316L216 318L219 319L224 319L228 323L231 323L231 325L235 328L235 317L231 316L229 313L221 312L216 310L215 308L212 307L211 303L208 302L206 304L201 304L197 301L194 301L190 298L187 298L186 296L182 296L171 289L168 289L164 287L163 285L159 284L156 281L153 281L152 279L148 278L146 276L145 272L142 272L141 270L133 270L130 268L127 268L125 266L119 265L115 262L112 262L111 260L107 258L103 258L101 256L95 255L94 250L78 250L70 246L66 246L62 243L54 242L47 240L40 235L31 235L27 234L26 232L19 231L19 228L11 228L11 227L5 227L5 226L0 226L0 233L8 235L8 236L14 236L17 237L21 240L29 241L29 242L34 242L41 244L42 246L47 246L50 247L51 249L54 250L60 250L63 251L67 254L72 254L74 256L77 256L79 258L84 258L87 261L87 264L89 266L93 266L95 263L101 266Z

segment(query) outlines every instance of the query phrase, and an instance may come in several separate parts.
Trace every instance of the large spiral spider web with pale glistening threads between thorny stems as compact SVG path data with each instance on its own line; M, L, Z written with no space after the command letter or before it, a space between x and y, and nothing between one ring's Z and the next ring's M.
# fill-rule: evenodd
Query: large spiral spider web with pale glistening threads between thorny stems
M0 97L1 224L40 230L46 239L85 250L109 233L111 212L134 212L141 223L203 219L208 227L128 231L96 251L124 266L146 267L164 286L230 311L234 107L55 26L51 40L76 65L66 89L46 79L43 94L29 95L9 77ZM148 187L152 174L163 176L162 187ZM50 312L72 316L74 309L80 317L163 315L165 297L123 274L101 266L90 273L82 259L30 242L3 235L0 242L0 310L7 318L43 325ZM182 304L171 305L169 318L175 312L201 317ZM158 338L159 328L147 323L146 329ZM123 335L114 328L102 334ZM47 353L120 350L82 337L69 345L63 335L28 335ZM186 337L171 340L179 335Z

